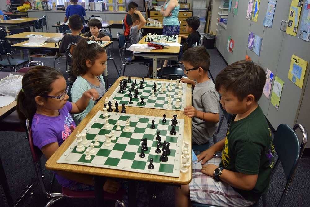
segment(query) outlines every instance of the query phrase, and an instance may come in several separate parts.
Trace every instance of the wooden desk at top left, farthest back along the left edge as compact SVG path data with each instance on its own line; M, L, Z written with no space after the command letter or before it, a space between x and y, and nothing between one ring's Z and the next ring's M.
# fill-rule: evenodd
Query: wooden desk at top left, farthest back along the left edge
M23 29L28 27L33 27L34 29L34 22L38 20L38 18L29 18L29 17L23 17L20 19L21 20L10 19L0 21L0 26L5 27L6 30Z

